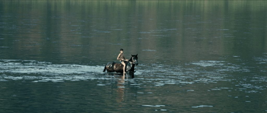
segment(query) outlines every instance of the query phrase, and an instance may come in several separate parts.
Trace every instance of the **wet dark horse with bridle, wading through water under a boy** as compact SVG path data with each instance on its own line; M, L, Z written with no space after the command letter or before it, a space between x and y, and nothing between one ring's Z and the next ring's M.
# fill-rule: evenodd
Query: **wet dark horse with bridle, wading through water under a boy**
M132 57L130 58L129 61L124 61L126 64L125 67L125 72L130 72L130 73L134 73L134 66L138 65L138 54L136 55L132 55ZM123 65L121 63L118 62L109 62L108 64L106 64L105 69L103 72L105 72L107 70L107 72L117 72L117 73L123 73Z

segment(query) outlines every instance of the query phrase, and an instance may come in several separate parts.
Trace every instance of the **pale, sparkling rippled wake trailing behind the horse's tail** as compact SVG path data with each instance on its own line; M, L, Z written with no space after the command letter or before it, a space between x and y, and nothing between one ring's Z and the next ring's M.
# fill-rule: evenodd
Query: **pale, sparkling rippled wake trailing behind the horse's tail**
M35 60L1 60L0 81L9 79L41 79L38 81L63 82L96 79L96 74L103 73L103 66L54 65L52 62ZM34 82L34 81L33 81ZM35 81L37 82L37 81Z

